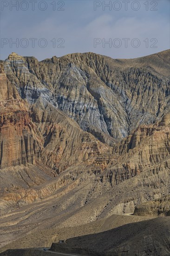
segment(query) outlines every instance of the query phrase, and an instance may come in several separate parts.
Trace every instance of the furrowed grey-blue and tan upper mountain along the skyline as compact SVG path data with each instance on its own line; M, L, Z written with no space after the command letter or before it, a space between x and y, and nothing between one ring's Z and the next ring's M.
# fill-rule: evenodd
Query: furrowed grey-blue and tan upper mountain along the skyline
M170 108L169 51L134 60L68 54L39 62L9 55L5 72L22 98L39 95L110 145Z

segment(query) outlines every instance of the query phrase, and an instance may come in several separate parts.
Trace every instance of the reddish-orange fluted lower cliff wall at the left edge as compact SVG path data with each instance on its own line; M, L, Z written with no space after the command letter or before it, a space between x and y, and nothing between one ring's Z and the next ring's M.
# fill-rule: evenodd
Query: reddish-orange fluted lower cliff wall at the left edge
M40 148L33 136L27 112L16 111L0 116L0 168L36 164Z

